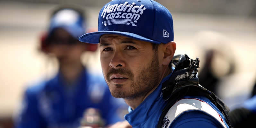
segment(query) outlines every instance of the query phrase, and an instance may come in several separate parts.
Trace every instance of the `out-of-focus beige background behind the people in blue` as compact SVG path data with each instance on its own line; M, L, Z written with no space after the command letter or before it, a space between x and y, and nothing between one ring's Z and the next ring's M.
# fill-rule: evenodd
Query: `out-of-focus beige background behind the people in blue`
M172 13L176 54L199 57L201 84L214 83L209 88L231 109L249 98L256 80L256 0L156 1ZM0 0L0 128L12 126L23 91L31 82L57 72L56 61L38 51L51 11L60 4L79 5L85 10L87 27L97 28L98 13L107 2ZM83 57L89 59L85 64L90 72L101 74L96 53Z

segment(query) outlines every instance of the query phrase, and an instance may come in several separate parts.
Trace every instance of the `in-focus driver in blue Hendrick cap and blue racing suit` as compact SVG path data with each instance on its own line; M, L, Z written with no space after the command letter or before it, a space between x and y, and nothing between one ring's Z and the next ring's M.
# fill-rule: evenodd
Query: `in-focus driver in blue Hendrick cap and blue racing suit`
M130 106L133 128L227 128L227 111L199 86L199 60L174 57L171 13L153 0L112 0L99 13L98 32L79 38L100 43L111 94ZM224 114L222 114L224 113Z

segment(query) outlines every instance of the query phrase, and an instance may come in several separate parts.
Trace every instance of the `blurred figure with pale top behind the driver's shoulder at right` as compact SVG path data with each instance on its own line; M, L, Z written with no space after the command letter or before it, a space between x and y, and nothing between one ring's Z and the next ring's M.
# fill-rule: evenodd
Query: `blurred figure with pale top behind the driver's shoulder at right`
M202 44L200 50L204 53L200 62L199 83L218 96L219 83L235 70L233 49L228 46L225 35L219 32L202 30L195 35L194 40Z

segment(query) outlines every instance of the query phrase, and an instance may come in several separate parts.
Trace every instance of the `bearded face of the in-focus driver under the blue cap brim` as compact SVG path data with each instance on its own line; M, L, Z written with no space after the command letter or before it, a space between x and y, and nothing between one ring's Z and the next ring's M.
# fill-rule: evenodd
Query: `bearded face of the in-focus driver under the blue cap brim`
M158 54L151 43L105 34L100 51L103 75L114 97L143 97L159 83Z

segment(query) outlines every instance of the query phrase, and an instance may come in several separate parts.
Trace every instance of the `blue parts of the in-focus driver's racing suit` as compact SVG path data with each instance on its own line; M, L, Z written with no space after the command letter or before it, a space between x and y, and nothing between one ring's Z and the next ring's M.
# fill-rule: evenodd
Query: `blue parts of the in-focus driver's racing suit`
M125 119L132 125L133 128L156 128L162 110L167 104L162 98L162 83L168 80L171 74L165 77L160 85L134 110L131 107L128 108L129 113L125 115ZM208 104L213 108L217 115L220 116L221 121L226 124L225 117L218 110L218 108L205 97L184 97L184 98L197 98ZM174 115L173 115L174 116ZM190 110L181 113L172 122L168 122L166 118L165 124L162 124L163 128L222 128L223 126L212 115L209 115L203 111ZM169 125L168 125L169 124Z

